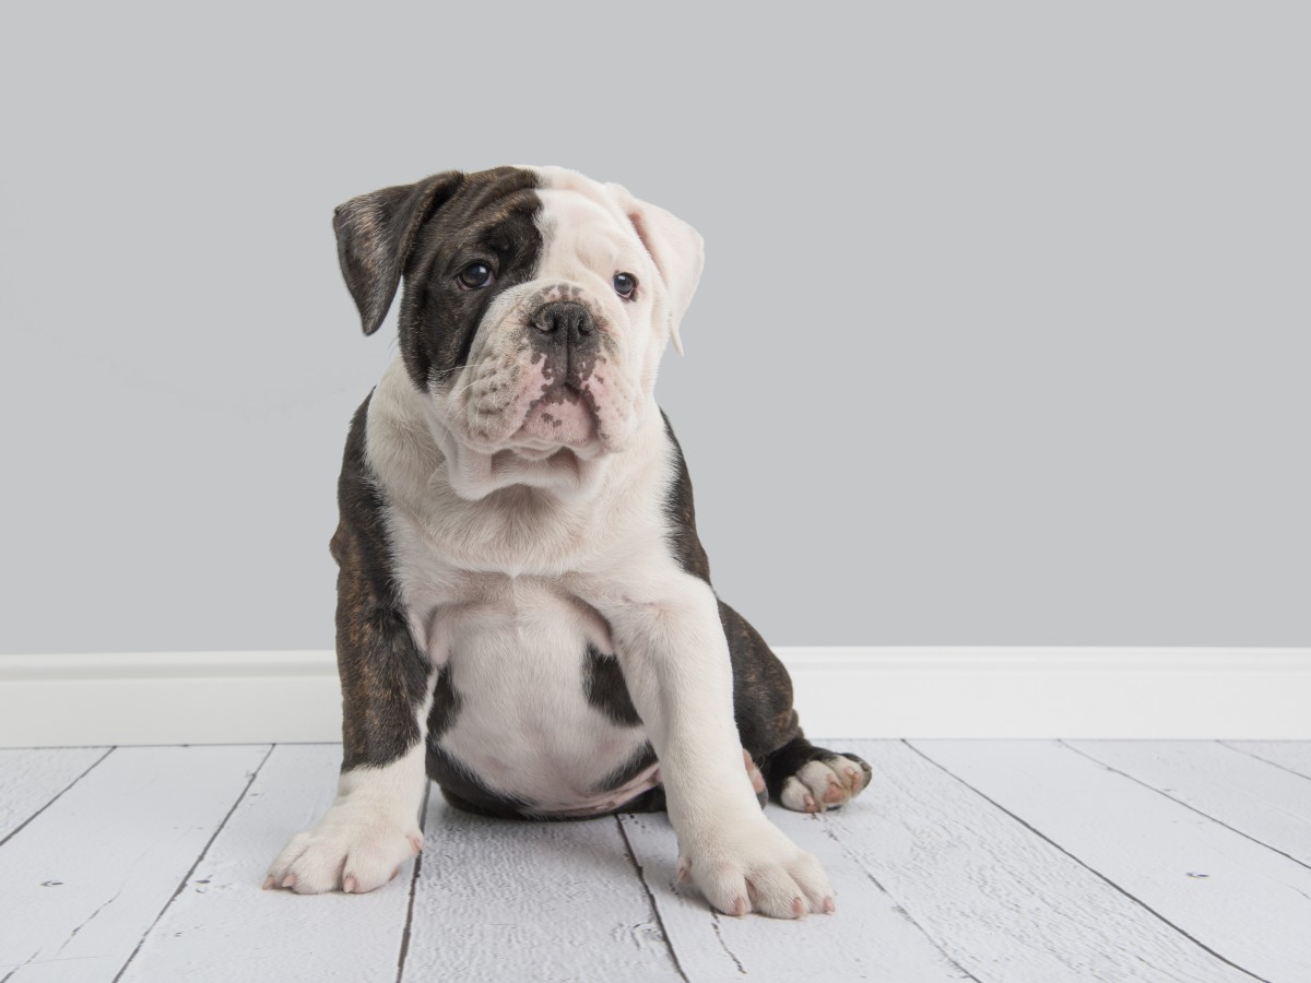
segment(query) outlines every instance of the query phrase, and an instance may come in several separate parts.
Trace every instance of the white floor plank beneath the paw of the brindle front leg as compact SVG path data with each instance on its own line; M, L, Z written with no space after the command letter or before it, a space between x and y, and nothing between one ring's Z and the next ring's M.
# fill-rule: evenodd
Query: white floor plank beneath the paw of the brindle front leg
M123 983L393 983L413 864L370 894L262 890L287 839L332 803L338 744L279 744L195 865Z

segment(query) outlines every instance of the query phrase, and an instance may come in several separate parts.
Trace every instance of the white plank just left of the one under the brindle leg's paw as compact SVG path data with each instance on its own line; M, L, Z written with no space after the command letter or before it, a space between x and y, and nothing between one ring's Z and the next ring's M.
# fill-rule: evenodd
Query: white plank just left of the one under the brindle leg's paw
M111 979L266 747L117 748L0 847L9 983Z

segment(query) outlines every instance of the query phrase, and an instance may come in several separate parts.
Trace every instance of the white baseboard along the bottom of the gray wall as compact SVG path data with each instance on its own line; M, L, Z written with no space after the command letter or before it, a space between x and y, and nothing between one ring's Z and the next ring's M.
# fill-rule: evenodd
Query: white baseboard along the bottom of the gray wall
M1311 739L1311 649L776 651L814 737ZM329 651L0 655L0 747L340 734Z

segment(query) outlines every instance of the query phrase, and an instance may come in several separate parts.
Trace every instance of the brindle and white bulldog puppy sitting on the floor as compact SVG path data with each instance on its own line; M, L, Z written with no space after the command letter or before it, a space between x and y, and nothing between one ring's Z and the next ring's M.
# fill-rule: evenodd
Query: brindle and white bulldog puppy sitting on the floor
M561 168L435 174L334 227L366 334L404 279L400 355L338 484L337 800L265 886L383 885L431 779L494 817L666 809L720 911L832 911L762 800L822 811L869 765L806 741L783 665L712 590L654 398L701 237Z

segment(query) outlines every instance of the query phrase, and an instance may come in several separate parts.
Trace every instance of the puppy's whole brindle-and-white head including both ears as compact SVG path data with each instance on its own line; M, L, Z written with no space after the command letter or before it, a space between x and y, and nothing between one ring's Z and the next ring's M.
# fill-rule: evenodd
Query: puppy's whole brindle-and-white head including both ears
M621 451L700 277L700 236L619 185L562 168L447 172L334 219L366 333L401 277L413 384L475 455Z

